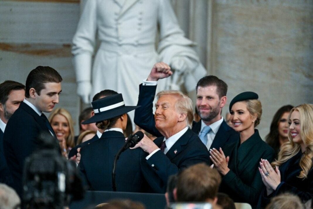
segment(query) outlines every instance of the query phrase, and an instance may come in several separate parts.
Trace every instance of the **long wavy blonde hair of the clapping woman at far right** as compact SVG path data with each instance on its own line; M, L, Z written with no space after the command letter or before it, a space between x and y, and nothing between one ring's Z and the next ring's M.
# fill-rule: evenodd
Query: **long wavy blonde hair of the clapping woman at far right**
M303 143L307 146L305 152L300 159L301 172L298 178L307 178L309 170L312 169L313 163L313 105L301 104L291 109L288 121L290 120L291 113L298 111L300 113L300 136ZM290 130L288 129L288 142L284 143L280 148L278 159L271 165L273 167L280 166L288 159L295 156L301 149L299 144L292 141Z

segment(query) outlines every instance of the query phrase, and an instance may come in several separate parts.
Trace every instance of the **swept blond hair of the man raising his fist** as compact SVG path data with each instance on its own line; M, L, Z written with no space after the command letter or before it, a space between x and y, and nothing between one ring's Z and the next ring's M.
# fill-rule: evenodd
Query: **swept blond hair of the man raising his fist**
M157 93L156 98L160 99L160 97L162 97L163 95L172 95L172 96L180 97L175 103L175 109L187 115L186 117L187 126L189 128L192 128L192 121L193 121L192 100L186 94L183 94L181 91L174 91L174 90L160 91L159 93Z

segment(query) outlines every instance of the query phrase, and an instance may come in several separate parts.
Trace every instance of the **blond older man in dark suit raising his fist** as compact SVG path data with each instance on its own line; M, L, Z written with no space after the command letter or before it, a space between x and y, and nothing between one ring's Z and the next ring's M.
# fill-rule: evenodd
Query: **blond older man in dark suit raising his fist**
M155 77L165 77L172 73L170 69L165 63L156 63L151 71L156 72ZM155 175L147 181L154 191L165 192L170 175L190 165L208 163L209 153L190 129L193 120L191 99L180 91L160 91L157 99L155 127L162 136L151 141L145 135L134 149L141 147L148 153L146 162Z

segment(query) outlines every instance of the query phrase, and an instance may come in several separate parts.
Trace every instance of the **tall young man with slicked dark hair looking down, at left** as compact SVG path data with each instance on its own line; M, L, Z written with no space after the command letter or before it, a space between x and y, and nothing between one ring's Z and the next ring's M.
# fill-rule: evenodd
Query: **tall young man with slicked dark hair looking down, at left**
M51 67L38 66L26 79L25 99L7 123L4 155L13 178L13 188L22 196L22 175L25 158L38 148L38 134L55 133L43 112L51 112L59 103L62 77ZM59 147L57 139L56 146Z

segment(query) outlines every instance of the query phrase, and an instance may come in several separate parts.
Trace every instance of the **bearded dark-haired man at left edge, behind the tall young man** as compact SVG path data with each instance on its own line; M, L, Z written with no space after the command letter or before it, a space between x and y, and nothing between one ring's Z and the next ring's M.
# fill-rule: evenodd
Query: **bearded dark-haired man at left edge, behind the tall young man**
M3 133L8 120L25 98L25 86L16 81L0 84L0 183L12 185L13 180L3 153Z

